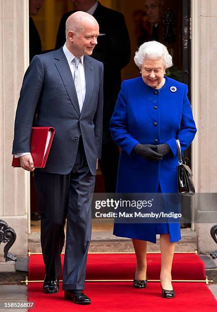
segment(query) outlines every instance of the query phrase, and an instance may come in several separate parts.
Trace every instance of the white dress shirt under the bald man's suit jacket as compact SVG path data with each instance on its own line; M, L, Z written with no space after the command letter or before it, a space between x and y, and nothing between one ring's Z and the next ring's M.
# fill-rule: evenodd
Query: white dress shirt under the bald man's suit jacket
M97 3L98 5L98 3ZM72 73L72 78L74 79L74 70L75 70L75 63L73 62L75 56L67 49L66 43L63 46L63 52L66 56L67 62L69 64L69 68ZM84 63L84 56L80 57L80 63L79 63L79 73L80 73L80 83L82 85L82 96L83 96L83 103L85 100L85 95L86 95L86 81L85 81L85 63ZM14 154L15 158L22 157L24 155L28 155L30 152L25 152L25 153L16 153Z

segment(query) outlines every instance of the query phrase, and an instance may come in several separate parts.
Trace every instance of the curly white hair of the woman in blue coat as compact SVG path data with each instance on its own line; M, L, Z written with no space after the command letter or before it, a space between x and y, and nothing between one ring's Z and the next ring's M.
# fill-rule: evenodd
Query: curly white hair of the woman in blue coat
M167 47L157 41L145 42L135 52L134 62L140 69L146 59L162 59L162 63L166 68L173 66L172 56L169 54Z

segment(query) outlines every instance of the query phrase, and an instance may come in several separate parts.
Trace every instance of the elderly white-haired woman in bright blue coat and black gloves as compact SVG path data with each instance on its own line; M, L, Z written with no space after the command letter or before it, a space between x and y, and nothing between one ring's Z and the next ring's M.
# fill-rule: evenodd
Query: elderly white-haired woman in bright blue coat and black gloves
M122 149L117 192L177 193L176 138L183 152L197 132L187 86L165 76L172 57L159 42L142 44L134 62L141 76L122 83L110 125ZM137 257L135 288L146 288L147 241L156 243L156 234L160 235L162 297L173 298L171 269L175 242L181 239L180 222L114 225L114 235L132 239Z

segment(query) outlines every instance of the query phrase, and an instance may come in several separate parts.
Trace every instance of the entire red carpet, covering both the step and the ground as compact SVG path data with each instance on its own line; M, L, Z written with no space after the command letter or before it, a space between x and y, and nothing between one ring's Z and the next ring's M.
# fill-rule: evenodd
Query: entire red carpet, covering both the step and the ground
M148 278L159 278L160 254L148 254ZM89 254L87 279L132 279L135 269L133 254ZM31 255L29 280L44 278L41 255ZM190 276L190 277L189 277ZM175 254L173 279L204 279L204 265L196 254ZM147 289L134 289L131 282L87 282L85 293L92 299L88 306L64 300L62 284L56 295L46 295L42 283L30 283L29 301L40 311L216 311L217 303L207 285L201 282L174 282L176 297L163 299L159 282L148 282ZM31 310L30 310L31 311Z

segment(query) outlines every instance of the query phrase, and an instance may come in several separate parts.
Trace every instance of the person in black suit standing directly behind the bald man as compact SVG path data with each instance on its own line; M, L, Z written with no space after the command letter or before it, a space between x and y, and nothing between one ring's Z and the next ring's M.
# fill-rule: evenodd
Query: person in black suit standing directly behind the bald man
M104 177L106 193L116 189L119 149L111 138L109 125L121 86L121 69L130 61L130 42L124 16L102 6L96 0L71 0L76 11L93 15L99 23L98 44L92 57L104 65L103 136L100 168ZM64 44L65 22L72 12L63 15L56 48Z

